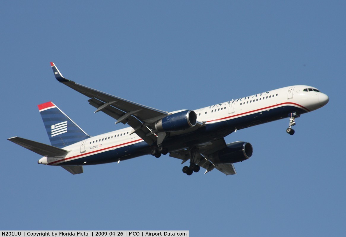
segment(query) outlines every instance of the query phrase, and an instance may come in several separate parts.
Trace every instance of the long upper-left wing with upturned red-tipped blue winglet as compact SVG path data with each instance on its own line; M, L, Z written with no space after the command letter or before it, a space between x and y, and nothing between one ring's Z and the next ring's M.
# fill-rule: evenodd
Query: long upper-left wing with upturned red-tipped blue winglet
M147 107L135 102L122 99L68 80L62 76L54 63L51 63L55 78L71 87L75 91L88 96L89 104L97 108L96 112L102 111L107 115L115 118L116 123L128 123L134 129L140 138L149 145L157 141L157 136L148 128L157 120L166 117L168 112L156 110L155 108Z

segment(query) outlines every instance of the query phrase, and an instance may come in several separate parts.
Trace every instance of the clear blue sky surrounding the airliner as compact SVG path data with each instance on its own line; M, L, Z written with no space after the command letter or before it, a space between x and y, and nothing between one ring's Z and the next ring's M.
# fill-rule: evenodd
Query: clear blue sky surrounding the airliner
M3 1L0 9L1 230L190 230L190 236L342 236L345 1ZM73 176L7 141L47 143L53 101L90 135L123 128L68 79L164 111L291 85L329 103L239 130L253 157L237 175L186 176L146 155Z

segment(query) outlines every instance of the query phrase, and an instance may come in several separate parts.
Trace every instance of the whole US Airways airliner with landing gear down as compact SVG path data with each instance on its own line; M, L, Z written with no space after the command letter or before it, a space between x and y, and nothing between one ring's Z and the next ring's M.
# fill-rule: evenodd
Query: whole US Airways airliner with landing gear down
M224 137L258 124L289 118L286 132L294 134L295 119L317 110L329 97L312 86L294 85L199 108L165 112L80 85L62 76L51 63L58 82L89 97L96 112L103 112L130 127L89 136L53 102L38 105L51 145L13 137L8 140L43 157L39 164L61 166L72 174L84 165L120 162L151 154L190 161L187 175L200 167L236 174L234 163L252 157L251 143L226 144Z

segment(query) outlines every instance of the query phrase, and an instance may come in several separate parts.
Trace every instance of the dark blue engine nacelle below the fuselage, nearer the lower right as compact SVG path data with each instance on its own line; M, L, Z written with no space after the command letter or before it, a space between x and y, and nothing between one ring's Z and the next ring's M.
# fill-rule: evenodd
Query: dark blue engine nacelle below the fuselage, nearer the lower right
M230 164L247 160L252 156L252 145L248 142L233 142L214 153L215 164Z

